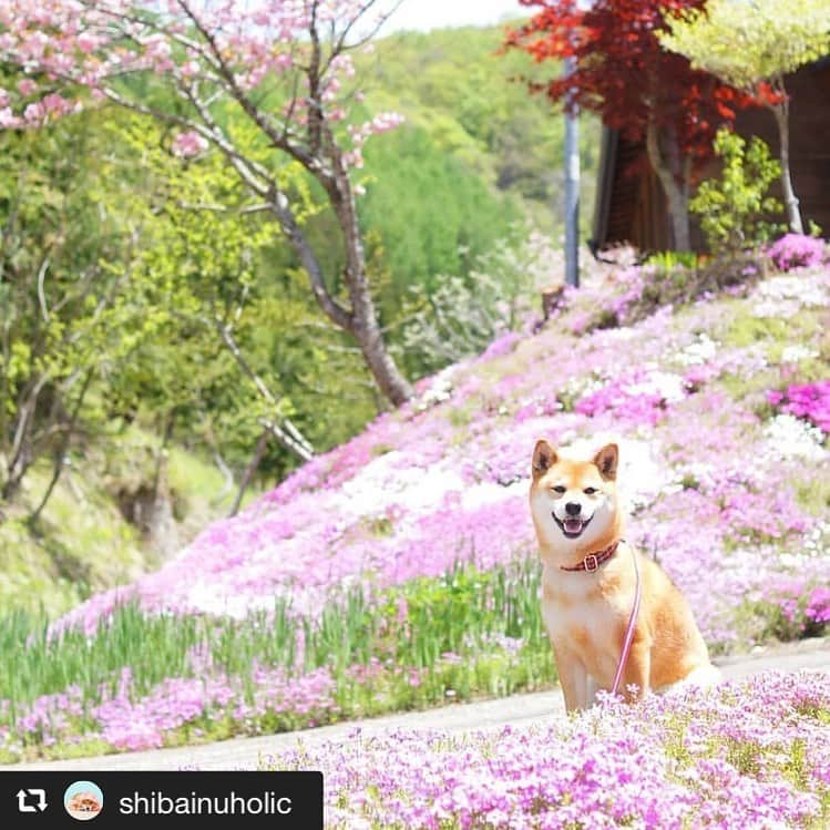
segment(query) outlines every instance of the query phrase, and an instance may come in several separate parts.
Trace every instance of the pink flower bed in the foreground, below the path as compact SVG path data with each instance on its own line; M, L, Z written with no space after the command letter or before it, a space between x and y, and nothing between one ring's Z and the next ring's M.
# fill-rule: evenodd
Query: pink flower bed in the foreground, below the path
M358 731L271 762L322 769L335 828L783 830L820 820L830 747L818 713L828 707L827 675L769 673L638 706L603 696L551 725Z

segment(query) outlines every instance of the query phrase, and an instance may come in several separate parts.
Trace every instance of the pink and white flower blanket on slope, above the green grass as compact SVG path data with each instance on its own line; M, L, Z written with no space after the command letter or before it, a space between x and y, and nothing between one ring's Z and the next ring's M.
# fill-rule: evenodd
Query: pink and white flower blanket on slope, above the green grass
M629 537L687 593L709 643L729 645L736 605L791 593L788 575L805 575L799 593L830 576L819 555L827 504L802 498L826 493L830 274L791 270L742 299L582 334L602 304L624 321L648 279L614 273L540 335L508 334L422 382L416 402L66 623L91 629L129 596L152 611L243 617L280 595L312 611L353 581L381 588L459 560L488 568L532 556L534 440L614 438Z

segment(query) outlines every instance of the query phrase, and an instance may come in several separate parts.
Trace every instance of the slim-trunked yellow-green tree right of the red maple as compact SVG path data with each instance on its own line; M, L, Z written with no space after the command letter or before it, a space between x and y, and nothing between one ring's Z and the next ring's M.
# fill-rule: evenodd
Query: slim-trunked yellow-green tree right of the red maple
M780 141L781 186L787 219L803 233L790 175L789 95L785 75L830 51L827 0L709 0L705 10L667 17L666 49L691 65L764 102L775 115Z

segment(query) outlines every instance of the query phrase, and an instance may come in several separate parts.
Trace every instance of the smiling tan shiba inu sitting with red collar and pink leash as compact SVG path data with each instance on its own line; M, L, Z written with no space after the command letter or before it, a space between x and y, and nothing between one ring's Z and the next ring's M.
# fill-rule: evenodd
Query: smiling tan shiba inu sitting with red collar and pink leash
M618 459L615 443L587 460L546 440L533 450L530 502L543 564L542 615L567 711L587 708L597 689L612 689L637 568L641 605L621 684L626 699L719 678L686 598L624 539Z

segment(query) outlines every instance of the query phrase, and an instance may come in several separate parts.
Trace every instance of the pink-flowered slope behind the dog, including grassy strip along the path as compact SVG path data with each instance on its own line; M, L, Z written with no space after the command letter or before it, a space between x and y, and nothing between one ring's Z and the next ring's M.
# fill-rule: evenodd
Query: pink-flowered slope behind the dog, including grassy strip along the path
M659 297L682 295L689 271L593 274L536 334L505 334L421 382L156 573L49 635L14 629L4 642L27 648L0 679L0 755L137 749L551 684L526 506L541 436L619 442L627 537L685 592L713 650L821 633L830 268L823 244L796 243L676 307Z

